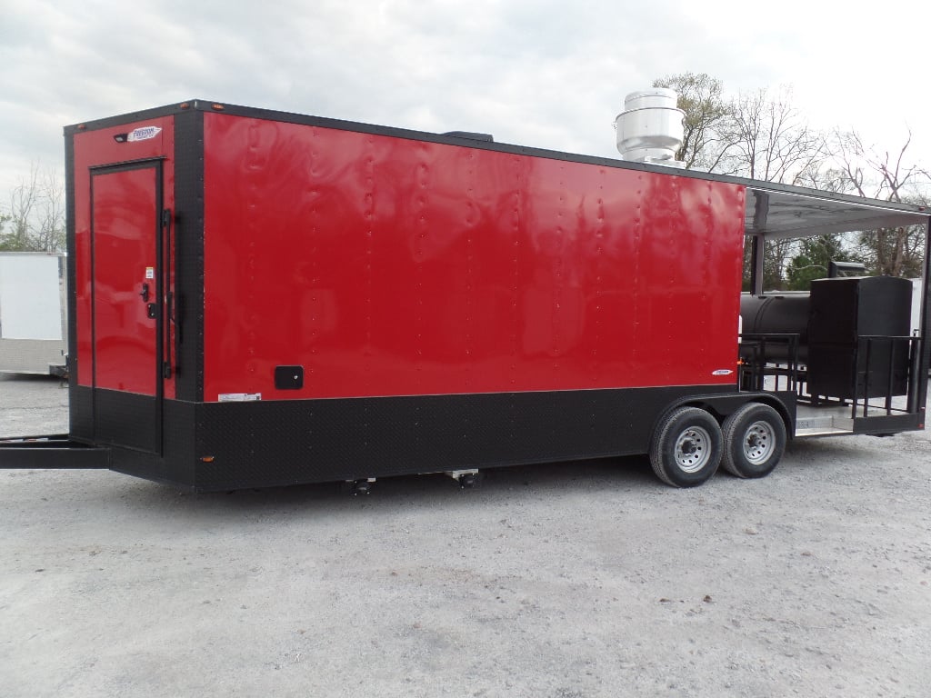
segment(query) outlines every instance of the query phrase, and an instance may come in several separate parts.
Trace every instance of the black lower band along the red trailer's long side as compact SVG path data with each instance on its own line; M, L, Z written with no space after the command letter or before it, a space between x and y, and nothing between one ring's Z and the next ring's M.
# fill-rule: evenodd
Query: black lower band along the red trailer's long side
M196 490L236 490L641 454L649 450L654 424L671 407L694 404L726 414L754 397L736 394L731 386L674 386L166 400L164 458L114 448L113 468ZM144 419L145 410L126 414Z

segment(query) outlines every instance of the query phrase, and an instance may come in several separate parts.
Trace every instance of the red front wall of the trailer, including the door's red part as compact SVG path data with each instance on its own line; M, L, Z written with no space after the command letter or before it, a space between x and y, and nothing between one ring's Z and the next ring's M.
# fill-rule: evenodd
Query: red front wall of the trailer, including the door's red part
M158 301L156 204L174 208L173 126L171 116L159 116L74 134L73 367L79 385L154 396L161 380L155 320L146 318L139 293L148 282L150 300ZM173 259L173 249L164 250L164 259ZM169 288L173 275L170 268ZM169 333L166 344L174 341L173 328ZM175 395L173 378L163 390L166 397Z

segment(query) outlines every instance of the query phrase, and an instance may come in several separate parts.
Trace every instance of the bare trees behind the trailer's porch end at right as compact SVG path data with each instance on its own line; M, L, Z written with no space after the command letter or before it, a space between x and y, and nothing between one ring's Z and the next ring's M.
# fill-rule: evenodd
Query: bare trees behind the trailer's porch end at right
M868 147L856 131L835 131L829 138L812 128L794 106L790 87L741 93L730 101L722 82L708 74L668 75L654 80L654 87L679 94L685 118L677 158L687 168L888 201L931 201L931 175L908 162L911 132L901 147L882 151ZM857 238L827 236L807 248L797 240L768 240L765 288L785 288L789 266L791 284L803 285L827 256L863 260L875 274L917 276L924 233L915 226L889 228Z

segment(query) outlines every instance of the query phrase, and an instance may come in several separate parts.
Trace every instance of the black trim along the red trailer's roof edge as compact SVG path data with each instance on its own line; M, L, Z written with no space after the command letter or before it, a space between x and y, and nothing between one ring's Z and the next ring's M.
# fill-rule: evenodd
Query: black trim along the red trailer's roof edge
M65 135L72 135L85 130L96 130L99 128L110 128L134 121L140 121L158 116L170 114L182 114L196 110L199 112L209 112L215 114L233 114L236 116L245 116L250 118L265 119L269 121L279 121L284 123L299 124L303 126L316 126L319 128L334 128L338 130L355 131L358 133L371 133L372 135L388 136L392 138L402 138L411 141L425 141L444 143L448 145L460 145L479 150L490 150L498 153L528 155L533 157L544 157L550 160L562 160L565 162L577 162L587 165L597 165L605 168L632 169L643 172L654 172L666 174L673 177L686 177L695 180L720 181L737 184L747 187L750 190L781 192L784 194L806 195L830 201L848 202L857 205L868 205L875 208L884 208L887 210L897 210L913 214L927 215L927 208L906 204L895 201L884 201L882 199L871 199L864 196L840 194L836 192L826 192L809 187L801 187L794 184L782 184L772 181L750 180L733 175L724 175L716 172L705 172L696 169L669 168L663 165L654 165L648 163L630 162L618 158L604 157L600 155L575 154L564 151L549 150L546 148L536 148L527 145L517 145L499 141L476 141L470 138L464 138L457 135L447 135L443 133L432 133L430 131L419 131L412 128L398 128L380 126L358 121L349 121L345 119L336 119L328 116L313 116L309 114L300 114L297 112L287 112L275 109L265 109L260 107L248 107L240 104L231 104L221 101L211 100L188 100L166 104L152 109L145 109L138 112L128 112L126 114L117 114L102 119L87 121L64 128Z

